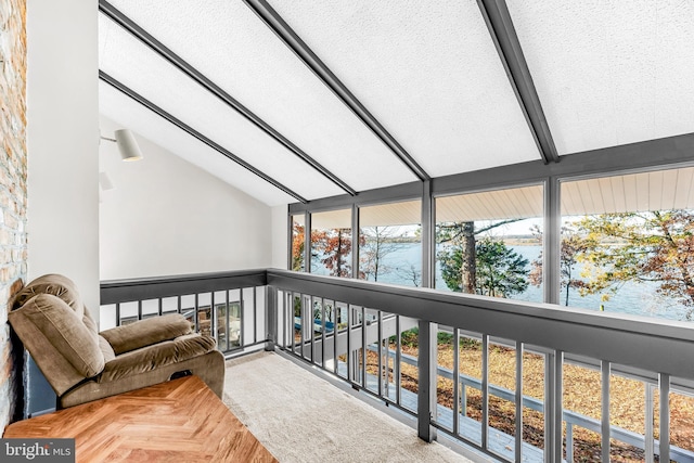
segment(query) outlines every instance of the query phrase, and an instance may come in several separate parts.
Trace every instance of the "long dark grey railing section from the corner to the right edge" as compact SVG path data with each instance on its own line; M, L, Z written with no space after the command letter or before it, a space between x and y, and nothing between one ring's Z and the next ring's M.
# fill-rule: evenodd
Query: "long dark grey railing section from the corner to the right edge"
M609 413L603 413L600 420L578 420L578 413L563 408L563 371L570 362L599 369L602 381L596 394L601 397L602 410L609 410L609 380L614 375L647 377L650 384L657 385L660 397L692 390L694 364L690 359L694 351L694 330L684 322L617 317L552 305L281 270L268 270L268 284L278 291L275 297L281 326L275 338L278 346L333 372L355 387L416 414L421 438L432 440L437 430L442 432L501 461L522 461L524 456L531 456L532 452L524 441L523 427L523 355L526 351L538 352L544 365L541 408L544 429L540 461L571 461L573 430L577 426L599 430L597 447L603 461L611 459L612 439L637 443L637 439L629 439L628 433L619 432L611 423ZM325 307L334 310L334 318L324 313ZM344 313L344 317L337 319L337 313ZM296 316L303 321L299 330L295 330ZM322 320L337 322L337 330L333 333L313 330L317 320L321 325ZM412 326L419 329L414 388L416 407L406 397L408 391L401 384L402 359L407 357L402 353L400 334ZM447 330L453 335L453 346L459 345L461 336L465 337L468 333L475 333L481 345L481 416L472 433L470 419L460 413L463 411L461 406L458 413L450 412L449 423L444 421L441 407L437 404L438 326L454 327ZM503 339L504 346L511 346L516 356L511 401L515 409L515 423L510 441L501 446L501 450L497 441L499 433L490 425L489 413L490 399L498 391L489 378L489 346L498 339ZM375 353L371 360L368 357L370 349ZM451 376L460 377L461 361L455 355L458 349L452 350ZM388 356L394 359L388 360ZM370 361L372 366L369 365ZM453 387L453 403L460 404L460 387ZM654 461L658 455L660 461L693 461L691 449L681 450L670 446L669 400L659 401L655 412L648 407L644 408L648 421L643 435L644 460Z

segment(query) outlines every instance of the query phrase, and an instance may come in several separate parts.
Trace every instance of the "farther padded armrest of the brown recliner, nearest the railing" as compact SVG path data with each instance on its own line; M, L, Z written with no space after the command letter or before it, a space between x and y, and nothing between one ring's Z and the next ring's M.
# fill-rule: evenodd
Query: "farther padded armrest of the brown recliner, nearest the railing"
M102 331L100 334L111 344L116 356L170 340L191 333L191 323L181 314L153 317L123 326Z

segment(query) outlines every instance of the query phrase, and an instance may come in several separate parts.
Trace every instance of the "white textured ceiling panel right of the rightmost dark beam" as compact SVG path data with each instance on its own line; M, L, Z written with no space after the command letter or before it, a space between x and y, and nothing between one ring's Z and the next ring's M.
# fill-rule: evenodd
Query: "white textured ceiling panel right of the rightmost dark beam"
M694 2L507 4L560 154L694 131Z

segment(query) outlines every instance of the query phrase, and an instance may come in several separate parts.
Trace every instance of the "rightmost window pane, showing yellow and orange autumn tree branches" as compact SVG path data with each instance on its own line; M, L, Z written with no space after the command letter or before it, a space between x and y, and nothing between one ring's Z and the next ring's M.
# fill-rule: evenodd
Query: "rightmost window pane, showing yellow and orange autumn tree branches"
M691 320L694 168L562 182L561 304Z

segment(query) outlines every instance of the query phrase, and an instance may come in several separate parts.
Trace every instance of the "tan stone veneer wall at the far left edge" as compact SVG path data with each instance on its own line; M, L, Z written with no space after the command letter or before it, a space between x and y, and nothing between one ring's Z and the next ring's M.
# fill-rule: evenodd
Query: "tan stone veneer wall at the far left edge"
M0 434L18 403L8 301L27 275L26 0L0 0Z

